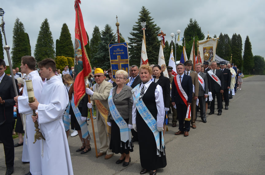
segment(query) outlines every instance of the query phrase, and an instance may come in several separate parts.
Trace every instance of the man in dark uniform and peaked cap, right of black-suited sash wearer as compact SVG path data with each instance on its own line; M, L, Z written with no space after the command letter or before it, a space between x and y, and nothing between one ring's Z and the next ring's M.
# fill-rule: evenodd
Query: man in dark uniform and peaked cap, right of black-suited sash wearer
M224 75L224 102L225 102L225 110L228 110L229 106L229 97L228 97L228 91L230 89L230 84L231 84L231 72L229 69L224 68L225 61L220 62L220 67L221 71L223 72Z

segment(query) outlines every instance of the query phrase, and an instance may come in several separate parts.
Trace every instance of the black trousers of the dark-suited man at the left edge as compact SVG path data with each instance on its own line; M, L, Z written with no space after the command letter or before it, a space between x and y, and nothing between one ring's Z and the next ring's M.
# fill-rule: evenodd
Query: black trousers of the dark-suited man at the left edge
M12 116L13 117L13 116ZM0 140L4 145L6 167L14 166L14 141L12 137L12 122L0 125Z

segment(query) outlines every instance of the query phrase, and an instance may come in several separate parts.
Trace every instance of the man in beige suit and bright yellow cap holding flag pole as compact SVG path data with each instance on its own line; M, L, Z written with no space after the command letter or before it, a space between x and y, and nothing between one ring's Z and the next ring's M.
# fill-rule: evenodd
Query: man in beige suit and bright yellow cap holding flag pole
M93 91L86 88L86 93L92 95L91 103L88 103L88 108L91 109L93 104L96 104L97 126L99 132L100 151L98 157L106 154L105 159L113 156L113 152L109 149L111 139L111 128L107 125L107 116L109 111L108 97L111 88L110 82L105 81L104 72L101 68L95 69L94 78L96 84L93 86Z

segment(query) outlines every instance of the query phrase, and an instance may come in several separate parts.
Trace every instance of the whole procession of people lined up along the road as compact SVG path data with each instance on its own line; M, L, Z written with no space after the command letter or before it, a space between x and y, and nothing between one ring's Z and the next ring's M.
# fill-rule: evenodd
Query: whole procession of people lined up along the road
M61 74L55 62L47 58L38 63L38 72L34 57L24 56L20 68L21 73L19 68L13 71L18 85L16 91L19 95L16 96L11 77L4 73L5 62L0 60L0 108L5 111L0 114L0 140L4 144L8 175L14 171L14 147L22 145L22 162L30 163L27 175L73 174L67 142L70 125L82 142L76 152L85 154L91 151L91 134L86 124L88 111L92 110L93 114L94 107L100 144L97 156L104 155L109 159L114 153L121 154L116 164L126 167L131 162L134 142L138 141L140 174L149 172L154 175L157 169L167 164L164 135L169 125L169 114L172 113L172 127L177 126L177 121L179 124L175 135L187 137L190 128L197 128L198 111L203 123L207 122L207 109L210 109L208 115L214 114L215 98L217 115L222 115L222 101L224 109L228 110L230 95L235 95L237 89L241 90L244 77L236 66L225 62L217 66L216 61L194 66L189 60L179 63L176 76L172 75L173 68L167 66L169 78L163 75L159 65L141 65L139 68L132 65L129 74L124 70L115 72L115 79L111 69L103 71L94 67L86 83L86 94L76 106L74 67L70 71L68 66L64 67ZM23 81L23 77L28 76L31 76L34 90L34 102L31 103L29 98L32 97ZM88 102L88 97L91 102ZM19 137L15 145L12 138L14 106ZM33 110L36 110L36 116ZM35 121L45 140L33 143ZM51 128L52 133L49 132Z

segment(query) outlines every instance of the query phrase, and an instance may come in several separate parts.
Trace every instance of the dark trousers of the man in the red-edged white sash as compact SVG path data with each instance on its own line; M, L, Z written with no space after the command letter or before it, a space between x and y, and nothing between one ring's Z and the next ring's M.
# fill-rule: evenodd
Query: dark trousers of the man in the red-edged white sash
M187 106L182 104L176 104L177 107L177 116L178 116L178 122L179 127L178 129L180 131L188 131L190 130L190 121L186 121L185 117L187 114ZM184 128L185 126L185 128Z

